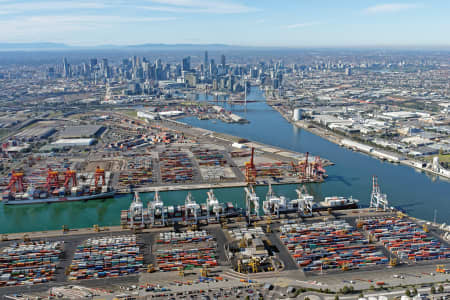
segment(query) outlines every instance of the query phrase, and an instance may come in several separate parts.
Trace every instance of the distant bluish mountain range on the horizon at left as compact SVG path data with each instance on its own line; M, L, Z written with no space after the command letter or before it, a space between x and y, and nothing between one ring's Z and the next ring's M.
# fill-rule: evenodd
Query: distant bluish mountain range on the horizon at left
M139 44L71 46L63 43L0 43L0 51L20 50L79 50L79 49L223 49L242 48L226 44Z

